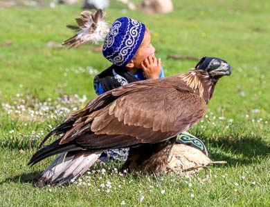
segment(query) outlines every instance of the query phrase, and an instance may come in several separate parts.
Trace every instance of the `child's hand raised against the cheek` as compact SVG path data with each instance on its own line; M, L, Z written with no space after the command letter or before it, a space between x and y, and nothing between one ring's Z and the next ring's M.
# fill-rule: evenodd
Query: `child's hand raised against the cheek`
M147 79L159 79L161 72L161 59L156 59L154 55L150 55L141 63L143 72Z

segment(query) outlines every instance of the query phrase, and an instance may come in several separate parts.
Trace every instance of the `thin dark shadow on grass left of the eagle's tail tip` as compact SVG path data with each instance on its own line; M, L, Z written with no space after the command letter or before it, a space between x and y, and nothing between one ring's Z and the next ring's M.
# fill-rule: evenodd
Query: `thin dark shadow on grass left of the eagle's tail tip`
M1 181L0 185L1 184L6 184L8 182L20 183L20 184L27 184L27 183L28 184L33 184L33 180L39 174L40 174L39 171L35 171L35 172L24 173L24 174L21 174L21 175L16 175L14 177L8 177L7 179Z

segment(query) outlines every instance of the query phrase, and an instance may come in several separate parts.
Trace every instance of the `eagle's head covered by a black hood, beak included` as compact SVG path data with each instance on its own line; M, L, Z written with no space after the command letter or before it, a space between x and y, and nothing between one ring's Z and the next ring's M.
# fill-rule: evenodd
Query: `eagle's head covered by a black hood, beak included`
M202 57L195 68L197 70L204 70L214 79L219 79L224 75L231 75L231 66L223 59L217 57Z

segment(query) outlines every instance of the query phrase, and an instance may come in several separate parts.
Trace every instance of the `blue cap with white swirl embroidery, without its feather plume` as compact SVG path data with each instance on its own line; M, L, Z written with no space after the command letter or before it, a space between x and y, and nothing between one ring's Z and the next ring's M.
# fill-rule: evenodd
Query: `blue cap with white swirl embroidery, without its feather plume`
M144 35L143 23L129 17L120 17L111 25L102 53L117 66L126 66L137 52Z

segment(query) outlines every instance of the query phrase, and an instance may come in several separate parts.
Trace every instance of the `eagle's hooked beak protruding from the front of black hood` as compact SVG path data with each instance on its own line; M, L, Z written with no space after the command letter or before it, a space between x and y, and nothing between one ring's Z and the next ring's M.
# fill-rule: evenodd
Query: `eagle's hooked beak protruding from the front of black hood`
M206 71L211 77L220 78L224 75L231 75L231 66L228 63L213 59L209 65L210 67L208 67Z

